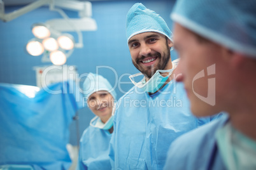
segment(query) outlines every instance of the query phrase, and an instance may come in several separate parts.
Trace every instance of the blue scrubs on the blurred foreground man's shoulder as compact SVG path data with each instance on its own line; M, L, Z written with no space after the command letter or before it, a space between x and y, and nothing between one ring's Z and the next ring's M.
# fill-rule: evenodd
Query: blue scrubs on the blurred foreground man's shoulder
M215 139L216 131L227 122L227 115L180 136L167 155L165 170L226 169Z

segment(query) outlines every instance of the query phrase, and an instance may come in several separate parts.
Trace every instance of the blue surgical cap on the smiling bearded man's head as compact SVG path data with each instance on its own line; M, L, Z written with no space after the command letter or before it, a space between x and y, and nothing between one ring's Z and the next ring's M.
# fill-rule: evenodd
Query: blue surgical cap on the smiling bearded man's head
M173 33L164 19L155 11L147 9L143 4L136 3L126 16L127 42L132 36L143 32L159 32L173 41L171 39Z

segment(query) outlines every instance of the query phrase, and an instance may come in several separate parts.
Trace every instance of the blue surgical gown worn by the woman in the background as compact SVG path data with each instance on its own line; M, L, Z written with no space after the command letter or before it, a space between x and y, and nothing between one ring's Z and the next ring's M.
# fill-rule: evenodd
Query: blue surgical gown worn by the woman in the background
M109 146L111 134L108 130L89 126L80 139L78 166L76 170L111 169Z

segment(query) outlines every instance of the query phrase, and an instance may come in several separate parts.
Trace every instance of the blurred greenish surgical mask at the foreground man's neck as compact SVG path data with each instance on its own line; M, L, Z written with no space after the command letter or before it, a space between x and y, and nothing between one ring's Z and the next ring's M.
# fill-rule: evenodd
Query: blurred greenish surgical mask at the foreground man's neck
M230 122L218 129L216 138L227 169L256 169L256 141L234 129Z

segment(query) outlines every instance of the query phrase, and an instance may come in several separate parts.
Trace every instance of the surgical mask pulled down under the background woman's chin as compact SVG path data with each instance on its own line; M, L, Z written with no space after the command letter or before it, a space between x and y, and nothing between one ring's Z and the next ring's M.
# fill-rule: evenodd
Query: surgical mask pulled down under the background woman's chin
M103 130L108 130L110 128L112 128L113 126L113 115L115 113L115 105L113 106L112 112L111 112L111 116L108 119L108 121L106 121L105 123L103 123L101 121L101 118L96 116L94 117L91 121L90 121L90 126L94 127L94 128L99 128L99 129L103 129ZM96 121L94 123L94 121Z

